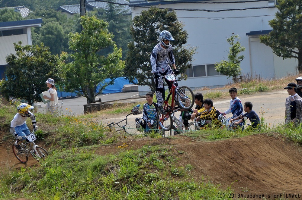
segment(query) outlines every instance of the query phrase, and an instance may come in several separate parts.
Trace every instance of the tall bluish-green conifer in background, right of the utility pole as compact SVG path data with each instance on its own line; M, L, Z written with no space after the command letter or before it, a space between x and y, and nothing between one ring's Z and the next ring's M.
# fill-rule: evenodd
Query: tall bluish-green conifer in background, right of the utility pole
M111 0L115 2L114 0ZM131 14L123 11L122 5L116 5L109 3L108 8L94 9L89 12L89 15L95 15L98 19L108 22L108 30L114 35L113 41L116 43L118 48L122 48L122 58L125 59L128 52L128 43L132 41L130 34ZM101 51L102 55L108 54L112 51L111 48L107 48Z

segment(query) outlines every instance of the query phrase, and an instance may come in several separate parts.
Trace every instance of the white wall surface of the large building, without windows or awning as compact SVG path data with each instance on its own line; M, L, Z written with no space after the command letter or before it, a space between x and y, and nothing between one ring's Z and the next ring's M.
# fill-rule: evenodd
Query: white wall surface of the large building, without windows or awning
M215 1L224 2L224 1ZM268 6L268 1L264 2L248 2L248 3L230 3L230 4L167 4L158 5L162 8L182 8L182 9L206 9L206 10L222 10L234 8L250 8L250 7L265 7ZM132 9L132 17L139 15L144 8L135 7ZM261 59L253 55L250 57L249 36L246 33L259 30L271 30L268 21L275 17L277 9L263 8L251 9L243 11L221 11L221 12L206 12L206 11L176 11L178 20L185 26L184 30L188 30L188 43L191 46L197 47L197 52L194 55L193 65L215 64L223 59L227 59L227 51L230 45L226 42L226 38L231 36L232 33L239 35L239 42L246 48L243 52L245 56L241 62L241 69L245 74L263 74L264 78L280 77L286 72L296 73L294 69L296 66L293 64L295 59L291 59L291 64L282 58L276 58L269 47L260 44L257 41L252 42L251 47L264 48L259 49L259 52L265 52L267 55L261 55ZM258 39L259 40L259 39ZM171 42L173 45L173 42ZM177 66L177 58L176 66ZM265 63L266 68L258 67L253 69L251 63L257 62ZM290 65L285 69L285 65ZM256 66L256 65L254 65ZM258 70L262 71L258 71ZM228 83L226 76L215 77L194 77L188 78L185 81L189 87L202 87L202 86L218 86ZM141 89L143 89L142 87ZM140 91L140 87L139 87Z

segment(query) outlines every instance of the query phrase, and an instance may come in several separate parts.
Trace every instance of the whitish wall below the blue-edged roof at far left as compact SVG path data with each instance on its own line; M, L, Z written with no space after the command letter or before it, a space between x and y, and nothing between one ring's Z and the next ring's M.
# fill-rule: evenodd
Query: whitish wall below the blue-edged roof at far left
M22 42L22 45L28 45L27 34L13 35L13 36L3 36L0 37L0 65L5 65L5 58L9 54L15 54L13 43Z

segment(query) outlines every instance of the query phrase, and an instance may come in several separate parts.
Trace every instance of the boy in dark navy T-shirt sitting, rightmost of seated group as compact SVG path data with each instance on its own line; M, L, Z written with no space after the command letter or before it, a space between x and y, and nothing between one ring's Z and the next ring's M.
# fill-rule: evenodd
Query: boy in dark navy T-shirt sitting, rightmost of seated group
M252 110L252 108L253 108L253 104L251 102L245 102L244 111L246 112L246 114L239 115L238 117L231 119L230 122L233 122L234 120L239 120L234 123L235 125L238 125L241 122L246 122L245 119L247 117L251 121L250 129L251 130L260 130L260 118L259 118L258 114L254 110Z

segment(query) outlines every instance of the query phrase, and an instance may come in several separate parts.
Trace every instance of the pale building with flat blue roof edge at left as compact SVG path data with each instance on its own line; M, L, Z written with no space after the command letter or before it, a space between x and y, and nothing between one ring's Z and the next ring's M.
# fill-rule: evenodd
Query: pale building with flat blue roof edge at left
M41 23L42 18L0 22L0 79L5 78L5 58L16 53L13 44L21 41L22 45L32 45L31 27L41 27Z

